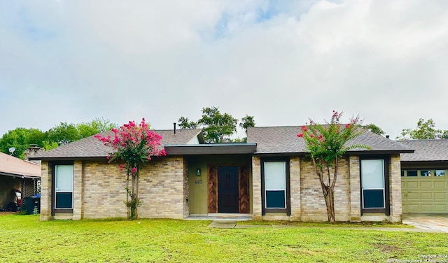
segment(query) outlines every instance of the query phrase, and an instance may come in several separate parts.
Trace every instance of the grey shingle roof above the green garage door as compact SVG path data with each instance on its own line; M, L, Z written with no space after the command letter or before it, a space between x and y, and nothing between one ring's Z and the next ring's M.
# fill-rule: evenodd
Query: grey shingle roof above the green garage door
M414 153L402 153L402 162L448 161L448 139L398 141L415 149Z

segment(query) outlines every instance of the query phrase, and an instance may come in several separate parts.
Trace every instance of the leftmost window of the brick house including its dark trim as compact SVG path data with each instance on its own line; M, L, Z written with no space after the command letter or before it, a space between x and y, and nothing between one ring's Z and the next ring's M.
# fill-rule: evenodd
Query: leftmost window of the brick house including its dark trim
M52 164L52 214L73 212L73 162Z

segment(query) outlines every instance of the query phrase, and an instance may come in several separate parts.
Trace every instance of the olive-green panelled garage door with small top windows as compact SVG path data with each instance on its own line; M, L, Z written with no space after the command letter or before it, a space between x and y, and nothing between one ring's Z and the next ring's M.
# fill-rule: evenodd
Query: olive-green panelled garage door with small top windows
M402 212L448 213L447 178L445 170L402 171Z

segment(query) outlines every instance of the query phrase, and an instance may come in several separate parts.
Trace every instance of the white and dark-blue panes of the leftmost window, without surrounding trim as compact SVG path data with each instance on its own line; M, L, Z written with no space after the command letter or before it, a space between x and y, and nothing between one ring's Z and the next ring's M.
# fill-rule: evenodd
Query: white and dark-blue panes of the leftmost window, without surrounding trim
M73 165L55 165L55 209L73 208Z

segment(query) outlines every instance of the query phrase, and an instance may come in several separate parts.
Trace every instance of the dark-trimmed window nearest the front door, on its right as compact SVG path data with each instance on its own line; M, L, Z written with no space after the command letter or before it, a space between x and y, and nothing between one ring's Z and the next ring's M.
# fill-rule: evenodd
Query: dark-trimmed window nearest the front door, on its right
M268 158L261 162L262 214L290 215L289 159Z

